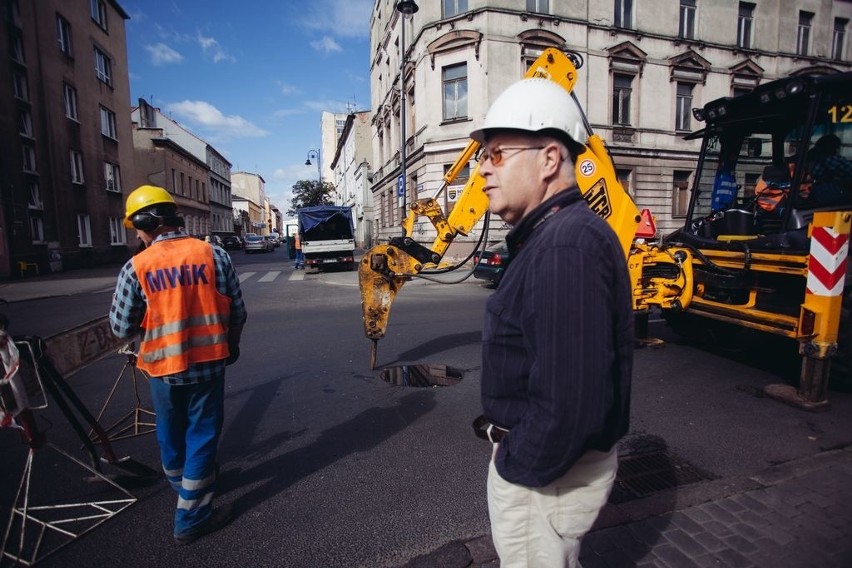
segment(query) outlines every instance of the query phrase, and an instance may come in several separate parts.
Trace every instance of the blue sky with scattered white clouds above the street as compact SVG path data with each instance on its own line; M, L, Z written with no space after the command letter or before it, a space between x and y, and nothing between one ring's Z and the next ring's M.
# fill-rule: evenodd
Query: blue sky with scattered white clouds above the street
M373 2L119 0L131 106L144 98L260 174L286 212L292 185L317 177L305 160L322 111L370 107Z

